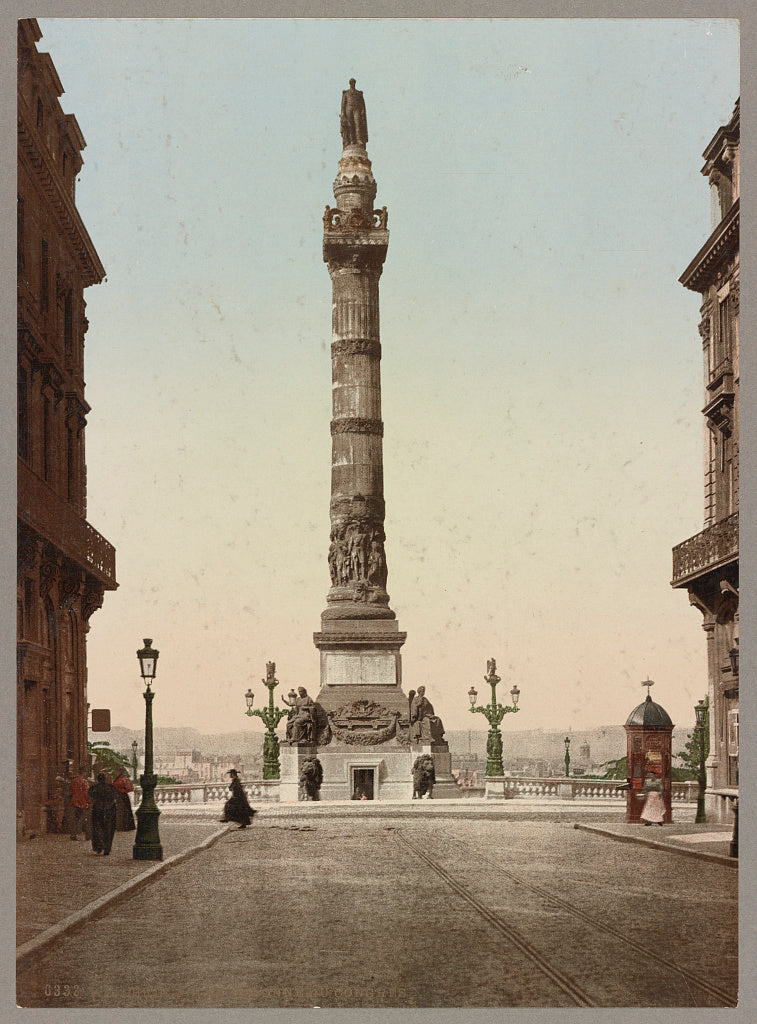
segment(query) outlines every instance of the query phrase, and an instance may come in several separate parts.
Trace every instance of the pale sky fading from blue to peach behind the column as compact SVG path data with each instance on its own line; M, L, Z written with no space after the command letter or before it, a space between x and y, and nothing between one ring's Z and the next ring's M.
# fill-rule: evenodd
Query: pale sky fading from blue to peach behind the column
M331 283L323 212L365 95L380 286L387 590L404 689L448 730L674 723L707 691L671 549L704 525L702 153L739 95L730 20L40 18L87 146L87 518L119 589L88 699L261 730L244 692L320 688Z

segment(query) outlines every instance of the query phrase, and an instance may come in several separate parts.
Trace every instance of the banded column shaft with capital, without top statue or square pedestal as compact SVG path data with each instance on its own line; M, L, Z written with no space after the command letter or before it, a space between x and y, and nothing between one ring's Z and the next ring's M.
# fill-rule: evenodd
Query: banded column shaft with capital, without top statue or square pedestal
M365 147L345 146L324 214L332 282L331 590L326 617L393 618L386 593L379 279L389 232Z

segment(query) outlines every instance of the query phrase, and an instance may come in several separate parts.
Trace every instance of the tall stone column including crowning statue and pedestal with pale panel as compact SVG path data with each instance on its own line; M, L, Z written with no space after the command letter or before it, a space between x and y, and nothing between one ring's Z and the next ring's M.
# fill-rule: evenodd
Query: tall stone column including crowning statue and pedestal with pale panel
M336 206L324 213L324 261L332 282L333 418L331 589L323 632L313 637L321 650L319 701L333 710L370 696L406 712L399 690L405 634L389 607L384 550L379 279L389 232L386 208L374 209L365 104L353 82L344 97ZM369 694L377 686L382 692Z

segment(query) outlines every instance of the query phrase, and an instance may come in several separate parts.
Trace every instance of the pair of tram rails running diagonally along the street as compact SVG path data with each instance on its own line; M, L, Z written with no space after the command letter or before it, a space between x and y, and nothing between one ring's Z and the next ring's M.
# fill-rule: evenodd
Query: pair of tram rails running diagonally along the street
M448 886L450 886L451 889L453 889L463 900L465 900L466 903L474 907L481 914L481 916L485 918L490 925L492 925L493 928L495 928L501 935L503 935L517 949L519 949L523 955L525 955L546 977L553 982L553 984L557 985L562 992L570 996L570 998L573 999L577 1006L596 1008L602 1005L596 1002L574 978L551 965L548 958L540 952L540 950L529 939L527 939L525 936L486 906L473 893L470 892L469 889L462 885L458 879L443 867L438 861L434 860L433 857L429 856L424 849L412 840L408 839L402 828L392 828L391 831L404 846L423 860L444 882L447 883ZM594 931L602 932L605 935L612 936L614 939L633 949L634 952L653 961L658 968L664 967L666 970L673 972L685 981L687 985L692 985L696 988L699 988L701 991L706 992L710 997L719 1000L723 1006L737 1006L737 999L730 992L720 988L718 985L714 985L705 978L701 978L692 971L686 970L686 968L681 967L681 965L677 964L675 961L661 954L659 949L651 949L648 946L643 945L643 943L631 938L626 933L614 928L601 919L586 913L586 911L582 910L579 906L576 906L576 904L572 903L570 900L566 900L561 896L557 896L546 889L542 889L540 886L534 885L534 883L529 882L522 876L516 874L509 868L503 867L501 864L496 863L489 857L476 854L476 859L485 864L488 864L490 867L496 868L499 874L508 879L515 886L517 886L519 890L529 890L534 893L534 895L546 900L547 903L551 904L558 910L570 913L573 918L578 919L583 925L589 926Z

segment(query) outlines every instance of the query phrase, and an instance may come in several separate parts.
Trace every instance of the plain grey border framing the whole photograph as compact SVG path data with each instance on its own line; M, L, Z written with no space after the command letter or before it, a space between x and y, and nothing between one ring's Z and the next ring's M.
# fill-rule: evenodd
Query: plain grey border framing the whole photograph
M2 749L15 751L15 700L11 695L15 691L15 601L10 582L15 579L15 529L13 525L15 509L15 389L13 387L11 358L15 351L15 263L13 260L14 246L12 239L15 232L15 53L16 34L15 23L19 17L326 17L326 18L733 18L741 23L741 59L742 59L742 153L744 175L742 188L742 205L747 206L747 216L743 218L742 252L748 254L756 250L755 240L757 226L750 216L754 208L754 183L752 170L755 166L755 78L757 77L757 59L755 52L757 38L755 37L755 22L757 10L754 4L747 0L724 2L724 0L667 0L661 2L628 3L620 0L573 0L573 2L487 2L487 0L417 0L415 3L393 2L393 0L264 0L264 2L239 2L239 0L162 0L151 3L148 0L38 0L36 5L19 3L17 0L6 0L0 13L2 25L2 61L0 61L0 94L2 95L2 137L5 145L0 148L0 181L2 182L2 204L0 205L1 222L5 245L0 255L2 260L2 282L0 290L0 310L3 324L2 373L0 374L0 496L3 510L6 513L2 520L0 534L0 580L2 587L2 605L0 609L0 650L2 654L2 678L6 680L5 693L7 702L0 716L0 738ZM733 97L735 99L735 97ZM696 97L691 97L696 102ZM717 125L711 126L715 131ZM741 319L742 334L747 338L755 337L754 304L754 271L749 259L743 261L742 282L747 289L748 299L742 303ZM741 492L746 508L754 507L755 462L757 461L757 418L755 417L754 371L757 366L755 346L745 347L742 352L742 366L746 372L742 375L742 394L747 400L742 402L741 430L745 437L744 450L746 458L741 462ZM754 583L754 552L757 550L757 530L755 520L749 516L741 521L741 562L742 579L748 580L747 600L742 602L742 636L747 642L746 659L742 660L742 674L746 666L746 677L749 680L752 670L753 641L755 635L755 605L751 586ZM675 538L671 538L671 546ZM7 581L7 586L5 583ZM745 713L742 716L743 731L746 742L743 760L743 786L754 793L754 727L755 695L749 689L742 694ZM3 759L2 785L0 786L0 810L3 827L1 829L5 885L2 887L0 902L0 920L3 924L3 934L14 934L14 864L15 845L15 755ZM754 815L751 813L751 802L744 801L744 817L741 823L740 863L740 1002L735 1010L701 1010L701 1009L602 1009L602 1010L565 1010L555 1009L448 1009L448 1010L180 1010L163 1009L150 1010L149 1019L156 1024L163 1022L245 1022L245 1024L268 1024L268 1022L307 1021L318 1016L321 1021L353 1022L373 1024L373 1022L403 1022L403 1024L434 1024L452 1022L472 1022L472 1024L494 1024L494 1022L509 1022L513 1018L528 1021L528 1024L556 1024L583 1021L584 1015L591 1022L601 1024L621 1024L621 1022L655 1022L655 1024L690 1024L691 1021L707 1021L707 1024L732 1024L757 1019L757 999L755 998L754 972L750 970L757 966L757 945L755 943L757 923L755 920L755 865L754 854ZM751 920L750 920L751 919ZM3 957L2 974L0 975L0 1011L6 1021L92 1021L99 1022L118 1014L120 1021L141 1021L145 1019L145 1011L137 1009L123 1010L28 1010L15 1006L15 965L10 955L12 942L5 943L7 956ZM619 961L618 970L623 970L623 962ZM528 1017L527 1017L528 1015Z

